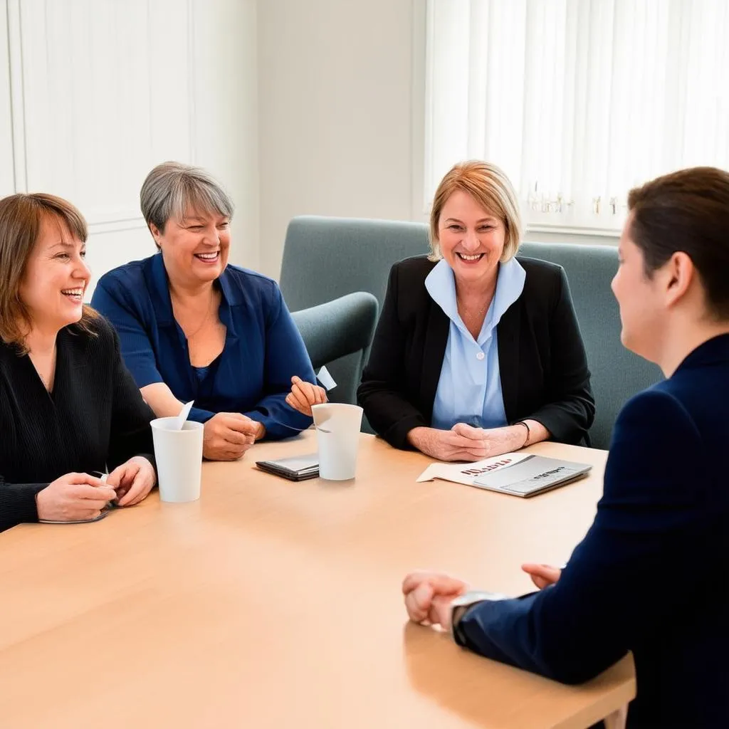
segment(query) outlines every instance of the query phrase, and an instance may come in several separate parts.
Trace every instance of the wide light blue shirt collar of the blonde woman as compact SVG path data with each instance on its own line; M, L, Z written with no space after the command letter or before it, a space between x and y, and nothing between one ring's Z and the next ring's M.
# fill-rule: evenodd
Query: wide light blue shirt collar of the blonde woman
M499 263L499 273L496 274L496 291L491 305L488 307L486 318L483 320L479 342L499 324L507 309L521 296L524 281L526 281L526 271L518 260L512 258L505 263ZM432 300L443 309L445 316L448 316L448 319L451 319L459 329L465 330L458 313L456 278L453 276L453 269L445 259L438 261L428 274L425 279L425 287Z

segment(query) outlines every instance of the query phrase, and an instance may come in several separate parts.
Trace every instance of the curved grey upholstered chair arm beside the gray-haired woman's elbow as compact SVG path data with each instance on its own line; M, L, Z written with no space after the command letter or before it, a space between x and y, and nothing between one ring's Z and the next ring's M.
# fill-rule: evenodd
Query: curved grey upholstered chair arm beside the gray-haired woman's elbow
M332 402L356 402L377 314L377 299L361 291L292 312L314 369L326 364L337 383L329 393Z

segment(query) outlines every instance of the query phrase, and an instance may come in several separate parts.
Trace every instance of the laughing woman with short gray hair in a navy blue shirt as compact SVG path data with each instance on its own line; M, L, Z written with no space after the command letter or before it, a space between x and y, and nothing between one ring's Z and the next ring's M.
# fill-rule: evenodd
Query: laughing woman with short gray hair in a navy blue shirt
M286 396L292 381L316 382L311 362L276 282L228 264L227 193L206 171L166 162L147 175L140 201L157 254L102 276L92 305L119 332L157 417L194 400L190 419L205 424L203 455L213 460L307 428L308 413ZM319 388L311 392L316 401Z

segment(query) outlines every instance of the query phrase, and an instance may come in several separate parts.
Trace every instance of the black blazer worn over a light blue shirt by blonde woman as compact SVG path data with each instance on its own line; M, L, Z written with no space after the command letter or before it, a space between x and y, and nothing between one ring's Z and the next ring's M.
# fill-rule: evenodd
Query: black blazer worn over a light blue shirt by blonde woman
M562 443L588 443L595 416L585 347L561 266L518 259L524 290L496 327L507 421L536 420ZM390 270L387 294L357 401L390 445L430 426L450 319L430 297L435 263L408 258Z

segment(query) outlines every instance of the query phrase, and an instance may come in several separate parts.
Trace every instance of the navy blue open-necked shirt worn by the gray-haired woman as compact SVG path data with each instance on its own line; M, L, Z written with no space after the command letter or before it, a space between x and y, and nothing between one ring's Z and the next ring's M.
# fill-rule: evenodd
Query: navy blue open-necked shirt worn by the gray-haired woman
M187 339L172 311L169 282L157 253L104 274L91 305L114 324L122 356L139 388L164 382L182 402L195 400L190 419L243 413L284 438L311 425L286 405L292 375L314 383L306 348L276 281L227 265L217 278L225 346L210 375L199 381Z

